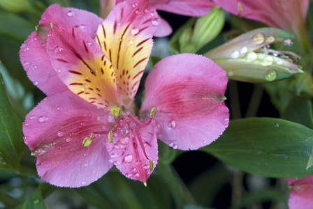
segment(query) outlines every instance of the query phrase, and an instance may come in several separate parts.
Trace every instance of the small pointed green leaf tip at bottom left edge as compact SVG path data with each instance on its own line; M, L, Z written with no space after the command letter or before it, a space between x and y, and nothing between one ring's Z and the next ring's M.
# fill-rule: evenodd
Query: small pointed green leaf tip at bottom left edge
M44 209L43 196L41 195L41 185L38 186L33 195L29 197L24 203L17 206L16 209Z

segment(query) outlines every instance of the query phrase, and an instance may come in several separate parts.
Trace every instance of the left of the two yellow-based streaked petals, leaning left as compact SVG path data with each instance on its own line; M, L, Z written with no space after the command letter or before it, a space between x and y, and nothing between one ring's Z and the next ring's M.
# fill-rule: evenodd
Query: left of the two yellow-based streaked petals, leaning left
M52 28L47 50L61 81L96 106L110 109L118 104L115 72L99 45L74 27Z

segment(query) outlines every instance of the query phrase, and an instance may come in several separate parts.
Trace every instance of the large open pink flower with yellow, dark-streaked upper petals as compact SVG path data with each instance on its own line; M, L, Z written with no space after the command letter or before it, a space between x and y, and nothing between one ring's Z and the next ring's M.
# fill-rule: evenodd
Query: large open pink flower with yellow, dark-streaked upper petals
M138 8L149 12L138 14ZM228 126L226 72L194 54L157 63L147 77L140 119L133 115L158 24L147 1L119 3L104 21L57 4L45 10L20 49L29 79L47 95L23 125L43 180L81 187L115 164L127 178L146 183L158 160L157 138L196 149ZM110 114L110 107L119 109L113 104L124 109L120 116Z

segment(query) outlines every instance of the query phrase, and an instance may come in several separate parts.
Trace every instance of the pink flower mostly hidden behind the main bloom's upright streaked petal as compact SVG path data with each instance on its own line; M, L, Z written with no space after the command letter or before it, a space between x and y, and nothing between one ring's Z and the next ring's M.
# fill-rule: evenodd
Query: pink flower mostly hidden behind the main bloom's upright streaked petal
M122 1L125 0L116 0L116 3ZM191 17L201 17L206 15L210 12L213 6L217 5L210 0L149 0L149 4L157 10ZM172 28L166 20L163 20L163 18L160 19L160 25L156 33L154 33L154 36L162 37L170 35L170 33L172 33Z

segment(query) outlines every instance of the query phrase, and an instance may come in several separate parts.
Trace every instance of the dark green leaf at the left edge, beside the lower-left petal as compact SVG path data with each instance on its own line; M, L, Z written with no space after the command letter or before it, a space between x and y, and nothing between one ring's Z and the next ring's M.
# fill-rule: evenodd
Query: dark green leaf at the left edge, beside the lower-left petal
M22 121L13 111L0 73L0 169L18 170L22 157Z

